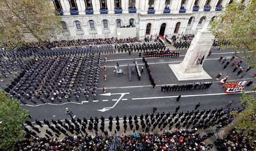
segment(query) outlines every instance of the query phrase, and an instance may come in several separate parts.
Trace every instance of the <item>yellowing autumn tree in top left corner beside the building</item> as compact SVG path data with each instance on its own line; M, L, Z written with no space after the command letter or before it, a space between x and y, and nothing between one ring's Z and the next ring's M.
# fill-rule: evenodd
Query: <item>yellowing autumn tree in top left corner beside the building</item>
M25 42L49 40L60 34L60 21L51 0L1 0L0 42L18 48Z

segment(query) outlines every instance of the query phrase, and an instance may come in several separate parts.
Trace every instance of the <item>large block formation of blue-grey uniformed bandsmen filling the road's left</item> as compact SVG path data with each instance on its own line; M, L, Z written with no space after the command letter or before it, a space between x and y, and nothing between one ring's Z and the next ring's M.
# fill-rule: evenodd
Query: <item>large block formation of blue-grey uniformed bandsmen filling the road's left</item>
M71 96L78 101L83 88L86 100L89 99L89 95L95 99L100 60L100 55L95 54L32 59L5 91L23 104L26 104L27 100L34 104L38 101L41 103L61 102L63 99L71 101ZM84 81L87 76L86 83Z

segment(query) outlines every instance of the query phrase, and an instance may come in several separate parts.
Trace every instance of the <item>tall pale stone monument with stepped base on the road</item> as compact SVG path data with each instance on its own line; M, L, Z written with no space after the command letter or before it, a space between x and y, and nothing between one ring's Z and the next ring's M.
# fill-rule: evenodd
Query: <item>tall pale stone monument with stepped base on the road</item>
M180 64L169 64L179 81L211 79L203 70L203 63L210 51L214 35L207 29L200 29Z

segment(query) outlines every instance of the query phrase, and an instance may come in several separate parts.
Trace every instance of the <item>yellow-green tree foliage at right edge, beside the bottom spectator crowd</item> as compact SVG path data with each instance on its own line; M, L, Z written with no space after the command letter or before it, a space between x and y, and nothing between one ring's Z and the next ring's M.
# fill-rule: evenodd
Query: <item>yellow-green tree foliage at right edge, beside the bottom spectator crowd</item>
M244 133L250 141L256 139L256 101L254 94L242 93L241 104L244 107L244 111L237 114L237 112L232 112L237 119L235 128L239 133Z

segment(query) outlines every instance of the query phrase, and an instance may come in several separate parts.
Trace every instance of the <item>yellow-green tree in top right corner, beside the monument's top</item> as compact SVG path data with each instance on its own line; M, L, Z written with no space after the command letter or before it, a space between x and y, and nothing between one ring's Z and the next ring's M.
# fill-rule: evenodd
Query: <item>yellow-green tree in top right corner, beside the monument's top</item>
M244 58L251 67L255 67L255 4L255 0L248 0L246 6L232 2L226 6L226 10L218 19L211 23L212 34L220 40L231 42L236 47L236 55L237 51L242 49ZM252 54L250 51L253 51Z

